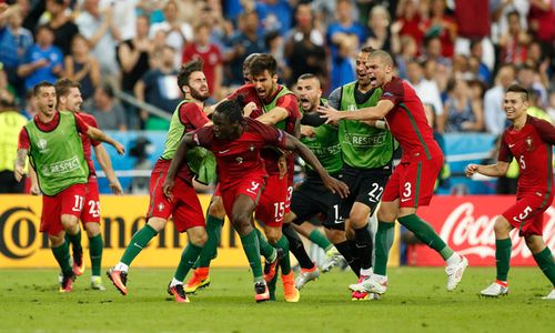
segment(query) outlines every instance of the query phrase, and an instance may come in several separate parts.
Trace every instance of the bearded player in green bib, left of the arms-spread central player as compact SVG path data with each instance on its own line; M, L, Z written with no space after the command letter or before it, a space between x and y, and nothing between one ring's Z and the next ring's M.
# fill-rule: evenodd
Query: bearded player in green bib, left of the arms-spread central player
M127 295L129 265L150 240L165 228L168 219L172 215L175 229L179 232L186 231L189 244L183 250L173 280L168 285L168 293L174 296L175 302L186 303L189 299L183 290L183 280L206 242L204 213L192 184L194 173L191 171L191 164L176 170L176 186L172 199L164 195L162 184L181 138L210 122L202 110L204 101L210 97L206 78L202 72L202 62L191 61L183 64L178 74L178 84L185 99L173 112L164 152L152 170L147 225L133 235L120 262L108 271L108 276L113 285ZM191 157L188 157L188 162L192 162Z

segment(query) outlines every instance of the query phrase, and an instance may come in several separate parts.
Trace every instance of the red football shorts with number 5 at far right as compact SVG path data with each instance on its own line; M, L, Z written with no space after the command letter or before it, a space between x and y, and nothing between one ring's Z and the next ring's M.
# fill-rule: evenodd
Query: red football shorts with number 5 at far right
M521 236L542 235L544 230L544 212L549 208L553 194L545 200L545 195L523 193L516 196L516 203L502 215L508 223L518 229Z

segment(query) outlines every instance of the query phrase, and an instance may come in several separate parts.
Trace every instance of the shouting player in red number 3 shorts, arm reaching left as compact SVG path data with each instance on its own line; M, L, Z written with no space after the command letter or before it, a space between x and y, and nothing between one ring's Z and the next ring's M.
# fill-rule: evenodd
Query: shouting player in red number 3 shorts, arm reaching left
M329 122L340 119L385 119L403 149L401 163L385 185L377 211L374 272L369 279L350 287L360 292L385 293L387 256L393 243L394 222L398 220L446 261L447 290L453 291L461 282L468 261L455 253L427 222L416 215L418 205L430 204L435 180L443 165L443 153L433 139L421 100L406 81L393 77L393 59L385 51L376 50L369 58L371 84L383 90L376 107L342 112L330 107L320 107L319 110Z

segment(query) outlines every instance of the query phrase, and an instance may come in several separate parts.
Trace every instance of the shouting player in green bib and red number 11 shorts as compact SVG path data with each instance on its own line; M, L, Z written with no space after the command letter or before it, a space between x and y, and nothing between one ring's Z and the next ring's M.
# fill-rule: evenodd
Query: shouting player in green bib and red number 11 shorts
M124 148L102 131L89 127L79 115L56 108L56 89L40 82L33 89L39 114L19 134L14 175L23 175L26 155L37 171L42 196L41 232L47 232L56 260L62 271L61 292L70 292L75 279L70 265L65 232L73 249L81 249L81 216L89 168L80 134L113 145L120 154ZM79 251L79 250L78 250Z

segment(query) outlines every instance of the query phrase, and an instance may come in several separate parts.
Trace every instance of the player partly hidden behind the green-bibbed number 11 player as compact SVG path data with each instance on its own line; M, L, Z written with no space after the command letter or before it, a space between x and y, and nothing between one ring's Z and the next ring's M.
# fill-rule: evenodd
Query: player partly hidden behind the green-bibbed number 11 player
M58 110L70 111L73 114L79 114L81 119L90 127L99 128L94 117L80 112L83 99L81 98L81 87L79 82L70 79L60 79L54 84L56 95L58 99ZM91 258L91 287L93 290L104 291L102 278L100 276L102 263L103 242L100 234L100 200L99 200L99 183L97 173L94 172L94 163L91 159L91 145L94 148L94 154L100 167L107 174L110 189L114 194L123 194L123 189L115 176L112 169L112 161L105 151L104 147L99 141L90 140L85 134L81 134L83 143L83 153L89 167L89 180L87 183L87 194L84 196L84 208L81 213L81 222L89 238L89 253ZM73 273L77 276L84 272L83 251L82 249L73 248Z

